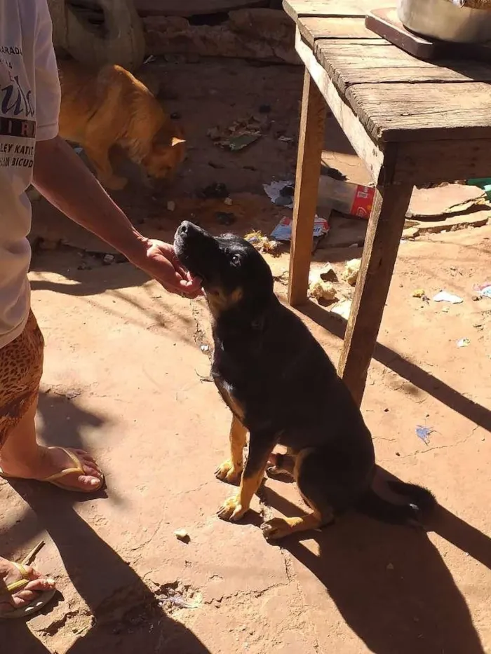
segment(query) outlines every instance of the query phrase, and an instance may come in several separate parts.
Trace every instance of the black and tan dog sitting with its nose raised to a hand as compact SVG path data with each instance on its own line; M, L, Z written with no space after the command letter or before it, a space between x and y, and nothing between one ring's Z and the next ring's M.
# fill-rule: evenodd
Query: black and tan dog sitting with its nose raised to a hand
M230 458L216 476L240 480L240 489L218 515L245 514L268 463L295 477L312 512L270 520L262 526L267 538L329 524L351 508L396 523L430 510L435 500L419 486L388 482L403 504L372 490L375 454L361 412L323 348L276 298L261 254L237 236L215 238L190 222L177 229L174 245L182 264L203 278L213 317L212 376L233 414ZM273 454L277 444L287 454Z

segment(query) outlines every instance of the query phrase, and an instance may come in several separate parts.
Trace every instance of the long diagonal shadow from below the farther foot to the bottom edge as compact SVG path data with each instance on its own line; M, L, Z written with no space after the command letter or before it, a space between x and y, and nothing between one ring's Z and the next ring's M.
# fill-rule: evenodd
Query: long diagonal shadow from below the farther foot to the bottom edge
M74 511L69 498L38 493L29 505L60 552L67 575L90 608L93 627L67 654L209 654L189 629L170 618L140 577ZM118 590L107 597L108 588ZM130 606L126 613L123 606ZM25 622L8 623L11 654L50 654Z

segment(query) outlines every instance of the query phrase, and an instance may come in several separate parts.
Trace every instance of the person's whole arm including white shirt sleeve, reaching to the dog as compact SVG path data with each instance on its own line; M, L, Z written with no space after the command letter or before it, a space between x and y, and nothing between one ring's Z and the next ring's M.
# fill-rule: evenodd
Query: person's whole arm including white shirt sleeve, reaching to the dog
M201 280L191 280L177 261L173 247L144 238L72 148L58 137L60 82L46 0L36 0L33 11L36 12L34 186L67 217L115 247L166 289L195 297L200 292Z

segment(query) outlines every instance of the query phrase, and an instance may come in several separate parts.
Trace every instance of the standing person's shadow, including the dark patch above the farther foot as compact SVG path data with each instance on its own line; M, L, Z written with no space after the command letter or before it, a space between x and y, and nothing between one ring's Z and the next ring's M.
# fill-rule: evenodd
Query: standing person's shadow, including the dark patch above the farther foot
M48 425L41 429L43 440L51 444L51 435L63 433L63 444L69 447L86 448L83 425L98 427L105 423L103 416L81 409L67 397L46 392L40 393L39 414ZM69 579L93 615L93 627L79 637L67 654L116 650L120 654L140 650L155 654L210 654L189 629L163 612L154 593L133 568L76 513L74 502L83 501L84 496L62 493L36 482L12 480L11 485L29 507L26 516L8 529L11 550L18 550L32 541L36 533L46 530L60 552ZM105 491L98 496L106 496ZM94 497L86 499L92 501ZM113 492L114 500L121 498ZM51 654L25 622L4 622L0 643L5 639L9 653ZM54 632L62 626L55 624Z

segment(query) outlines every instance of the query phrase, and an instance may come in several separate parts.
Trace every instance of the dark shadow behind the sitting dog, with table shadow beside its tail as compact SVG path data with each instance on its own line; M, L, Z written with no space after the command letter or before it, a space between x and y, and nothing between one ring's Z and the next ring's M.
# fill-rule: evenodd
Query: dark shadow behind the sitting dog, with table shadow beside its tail
M271 488L265 494L283 515L299 514ZM491 539L478 529L438 507L431 530L491 569ZM294 536L281 545L321 582L370 652L485 654L466 601L424 531L350 515L305 538L318 555ZM298 574L302 584L305 573Z

